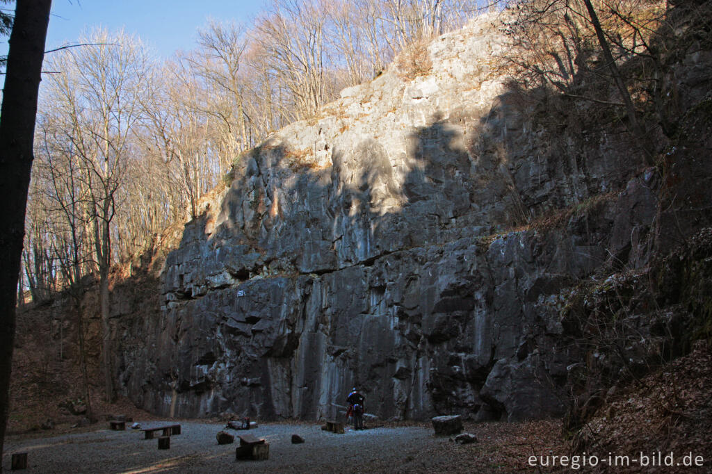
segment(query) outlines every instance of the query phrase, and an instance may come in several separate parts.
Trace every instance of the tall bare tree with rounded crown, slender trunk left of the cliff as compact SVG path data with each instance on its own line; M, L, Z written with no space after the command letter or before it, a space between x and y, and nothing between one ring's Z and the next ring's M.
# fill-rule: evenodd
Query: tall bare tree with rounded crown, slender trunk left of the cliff
M52 68L53 102L59 124L83 167L88 191L94 256L99 271L105 391L115 399L112 379L109 270L112 265L111 223L117 193L124 184L130 138L144 116L142 93L150 62L137 38L123 32L94 31L83 43L95 46L63 51Z

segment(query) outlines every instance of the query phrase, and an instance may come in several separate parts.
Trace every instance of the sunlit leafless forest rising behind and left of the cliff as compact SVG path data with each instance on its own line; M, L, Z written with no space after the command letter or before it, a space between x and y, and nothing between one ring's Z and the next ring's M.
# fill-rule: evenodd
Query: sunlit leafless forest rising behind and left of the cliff
M76 41L86 46L49 53L19 300L88 274L105 285L110 265L195 216L241 154L482 8L276 0L252 24L209 21L194 49L164 61L125 31L88 31Z

